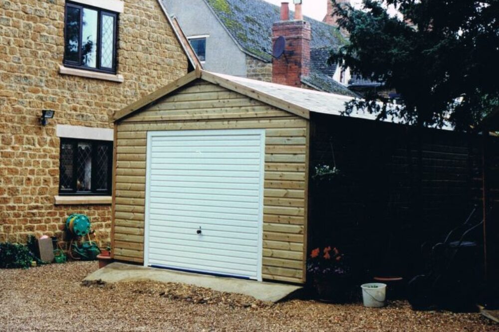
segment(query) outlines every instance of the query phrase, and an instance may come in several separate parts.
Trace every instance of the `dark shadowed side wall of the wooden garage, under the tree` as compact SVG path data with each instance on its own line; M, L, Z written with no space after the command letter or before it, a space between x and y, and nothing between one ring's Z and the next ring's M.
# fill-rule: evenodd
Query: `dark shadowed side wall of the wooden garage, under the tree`
M313 115L310 140L311 169L340 174L311 180L309 247L337 246L372 272L421 271L421 244L443 241L477 203L471 135Z

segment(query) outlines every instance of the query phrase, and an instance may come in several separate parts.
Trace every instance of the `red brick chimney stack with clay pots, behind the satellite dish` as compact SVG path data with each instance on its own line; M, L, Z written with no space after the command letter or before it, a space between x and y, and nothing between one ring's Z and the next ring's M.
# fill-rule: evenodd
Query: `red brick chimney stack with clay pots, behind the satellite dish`
M272 58L272 82L294 87L301 87L301 77L310 73L310 23L300 16L301 7L296 8L298 19L289 19L282 15L288 8L287 2L281 3L281 20L272 25L272 45L279 36L286 38L284 54L278 59ZM284 19L283 19L284 18Z

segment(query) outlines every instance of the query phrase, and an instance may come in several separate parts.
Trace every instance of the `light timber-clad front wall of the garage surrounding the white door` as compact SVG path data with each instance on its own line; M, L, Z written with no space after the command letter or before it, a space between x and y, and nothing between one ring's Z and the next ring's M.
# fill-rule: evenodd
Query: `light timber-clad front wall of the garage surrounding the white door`
M263 279L304 282L308 121L195 81L117 124L114 257L143 262L148 131L265 129Z

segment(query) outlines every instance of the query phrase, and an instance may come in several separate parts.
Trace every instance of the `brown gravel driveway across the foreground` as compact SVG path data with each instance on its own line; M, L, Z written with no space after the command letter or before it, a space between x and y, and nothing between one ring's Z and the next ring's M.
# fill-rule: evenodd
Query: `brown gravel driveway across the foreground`
M292 300L277 305L179 284L91 284L95 262L0 270L0 331L499 331L479 314Z

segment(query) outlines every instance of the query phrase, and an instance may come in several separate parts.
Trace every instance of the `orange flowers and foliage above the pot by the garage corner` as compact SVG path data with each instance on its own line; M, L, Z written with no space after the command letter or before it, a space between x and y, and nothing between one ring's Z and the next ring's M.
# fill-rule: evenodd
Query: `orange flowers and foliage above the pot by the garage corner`
M343 256L336 247L315 248L307 259L307 272L316 276L348 275L350 269L345 265Z

